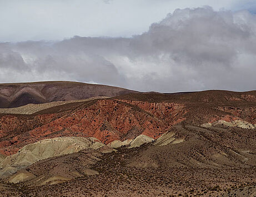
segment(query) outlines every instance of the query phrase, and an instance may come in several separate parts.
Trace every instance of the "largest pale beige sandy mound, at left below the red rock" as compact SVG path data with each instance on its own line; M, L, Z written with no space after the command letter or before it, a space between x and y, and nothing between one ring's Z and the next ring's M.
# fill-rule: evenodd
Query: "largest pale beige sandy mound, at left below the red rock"
M98 149L103 146L104 144L93 138L61 137L44 139L28 144L20 149L18 153L3 159L0 164L0 176L3 178L13 174L18 169L26 168L39 160L75 153L83 149Z

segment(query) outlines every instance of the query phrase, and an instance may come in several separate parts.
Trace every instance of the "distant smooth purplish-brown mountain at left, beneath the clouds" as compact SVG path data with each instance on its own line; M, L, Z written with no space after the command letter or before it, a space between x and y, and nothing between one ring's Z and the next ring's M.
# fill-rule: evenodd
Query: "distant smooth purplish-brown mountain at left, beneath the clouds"
M0 84L0 108L14 108L29 103L79 100L91 97L114 97L133 90L108 85L78 82L34 82Z

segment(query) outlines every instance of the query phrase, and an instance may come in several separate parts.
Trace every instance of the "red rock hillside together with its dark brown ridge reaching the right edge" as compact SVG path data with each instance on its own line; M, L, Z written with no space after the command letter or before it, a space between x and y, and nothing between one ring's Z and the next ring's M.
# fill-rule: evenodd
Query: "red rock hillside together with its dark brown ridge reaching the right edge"
M225 91L137 93L62 105L38 115L2 115L0 153L10 155L24 145L62 136L94 137L108 144L140 134L157 139L178 123L200 125L243 119L255 124L256 107L251 101L255 95L240 94Z

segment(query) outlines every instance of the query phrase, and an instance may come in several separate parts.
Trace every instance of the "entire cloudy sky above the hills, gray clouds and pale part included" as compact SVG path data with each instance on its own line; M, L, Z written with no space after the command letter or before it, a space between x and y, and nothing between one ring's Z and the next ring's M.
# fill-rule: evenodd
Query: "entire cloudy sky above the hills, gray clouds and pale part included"
M0 83L256 89L255 0L0 0Z

